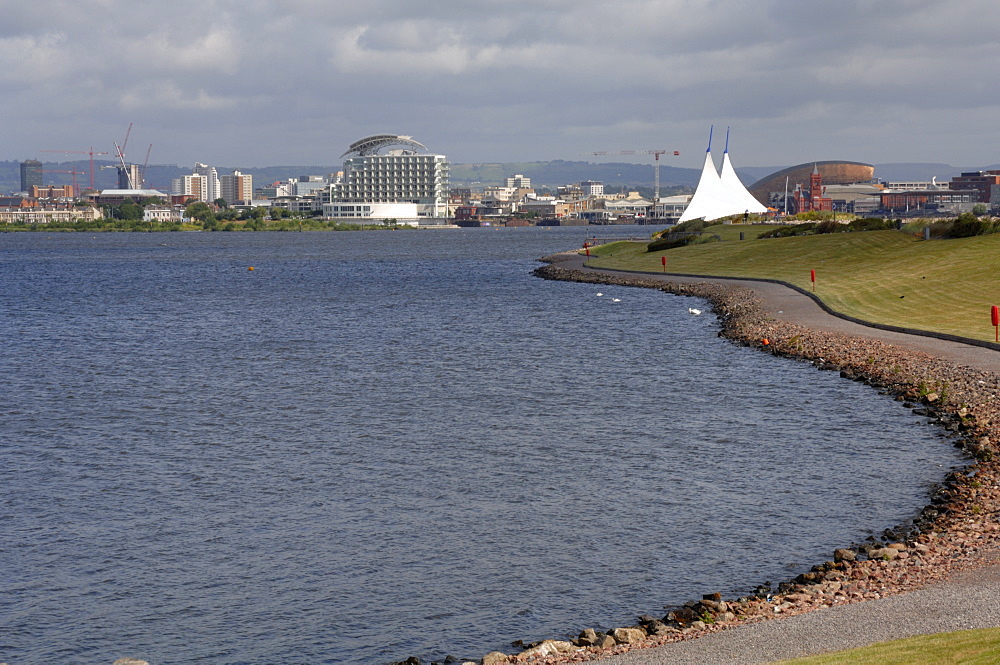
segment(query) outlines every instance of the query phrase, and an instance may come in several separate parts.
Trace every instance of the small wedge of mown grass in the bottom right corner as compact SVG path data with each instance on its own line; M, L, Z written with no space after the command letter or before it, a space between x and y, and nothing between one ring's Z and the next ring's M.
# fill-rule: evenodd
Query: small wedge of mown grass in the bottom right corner
M1000 628L919 635L781 665L987 665L1000 662Z

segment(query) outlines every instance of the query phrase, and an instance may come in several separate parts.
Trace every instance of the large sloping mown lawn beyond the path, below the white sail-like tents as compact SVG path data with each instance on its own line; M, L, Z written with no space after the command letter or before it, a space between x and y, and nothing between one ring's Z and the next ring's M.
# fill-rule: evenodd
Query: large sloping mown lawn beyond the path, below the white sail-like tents
M723 242L646 252L645 243L591 250L595 268L778 279L812 289L831 308L875 323L993 341L1000 305L1000 234L929 240L898 231L759 239L770 227L715 226ZM746 240L739 240L744 231Z

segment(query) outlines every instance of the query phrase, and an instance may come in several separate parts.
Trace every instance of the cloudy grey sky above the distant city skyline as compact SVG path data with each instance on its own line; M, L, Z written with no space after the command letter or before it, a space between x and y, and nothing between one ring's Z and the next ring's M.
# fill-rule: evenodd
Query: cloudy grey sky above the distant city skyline
M1000 162L992 0L3 2L0 159ZM151 148L149 146L152 146ZM107 158L107 157L105 157ZM717 157L717 161L721 157Z

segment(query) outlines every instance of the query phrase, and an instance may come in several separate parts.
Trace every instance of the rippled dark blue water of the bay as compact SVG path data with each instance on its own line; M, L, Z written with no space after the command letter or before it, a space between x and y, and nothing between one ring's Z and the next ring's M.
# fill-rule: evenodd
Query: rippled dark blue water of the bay
M697 301L530 275L585 232L0 236L0 660L478 658L794 576L960 463Z

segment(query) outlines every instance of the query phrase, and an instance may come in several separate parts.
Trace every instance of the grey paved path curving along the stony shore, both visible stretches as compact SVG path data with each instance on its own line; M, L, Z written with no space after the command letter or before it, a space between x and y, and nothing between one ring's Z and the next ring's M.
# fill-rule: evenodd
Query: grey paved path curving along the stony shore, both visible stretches
M558 265L601 272L586 267L584 257L574 257ZM614 271L614 274L620 273ZM725 282L745 286L760 296L764 310L775 319L814 330L878 339L1000 374L1000 352L933 337L870 328L840 319L825 312L808 296L780 284L744 279L636 274L672 282ZM914 635L994 627L1000 627L1000 554L988 553L981 555L979 567L954 574L919 591L744 625L696 640L640 649L598 662L608 665L768 663Z

